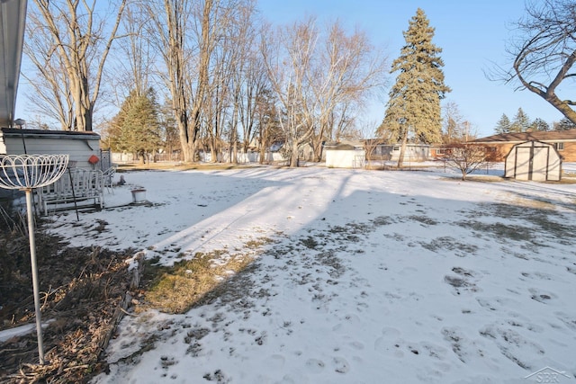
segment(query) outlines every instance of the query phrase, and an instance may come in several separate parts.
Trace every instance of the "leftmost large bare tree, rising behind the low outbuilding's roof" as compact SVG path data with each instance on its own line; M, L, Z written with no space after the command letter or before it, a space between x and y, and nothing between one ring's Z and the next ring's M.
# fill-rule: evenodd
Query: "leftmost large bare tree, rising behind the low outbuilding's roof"
M127 0L110 3L112 23L108 14L95 11L95 3L33 0L29 9L24 51L41 78L31 85L40 109L62 129L93 129L104 63Z

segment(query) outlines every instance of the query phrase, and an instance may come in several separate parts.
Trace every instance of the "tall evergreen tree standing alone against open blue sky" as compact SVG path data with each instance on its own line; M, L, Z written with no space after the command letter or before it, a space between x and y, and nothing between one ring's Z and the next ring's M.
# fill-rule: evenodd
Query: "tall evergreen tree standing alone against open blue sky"
M409 137L424 143L441 140L440 100L450 88L444 84L444 61L438 56L442 49L432 43L434 31L419 8L409 22L408 31L403 32L406 45L401 56L392 63L391 73L399 74L378 133L381 137L392 133L392 138L401 141L398 166L404 160Z

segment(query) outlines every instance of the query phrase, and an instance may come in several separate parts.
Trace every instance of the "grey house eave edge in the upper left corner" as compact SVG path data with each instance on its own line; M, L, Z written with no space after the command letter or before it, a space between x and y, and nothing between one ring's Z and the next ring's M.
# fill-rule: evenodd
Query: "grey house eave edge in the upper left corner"
M26 0L0 1L0 127L12 127L22 61Z

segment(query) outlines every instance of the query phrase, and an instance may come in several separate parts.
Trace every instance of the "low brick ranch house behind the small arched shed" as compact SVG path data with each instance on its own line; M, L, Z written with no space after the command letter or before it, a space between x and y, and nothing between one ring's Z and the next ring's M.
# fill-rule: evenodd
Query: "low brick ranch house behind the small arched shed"
M477 138L471 143L493 148L495 161L504 161L512 147L527 141L550 144L562 156L564 162L576 162L576 129L501 133L486 138Z

